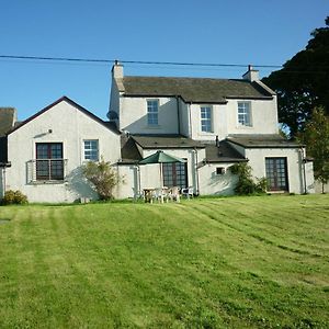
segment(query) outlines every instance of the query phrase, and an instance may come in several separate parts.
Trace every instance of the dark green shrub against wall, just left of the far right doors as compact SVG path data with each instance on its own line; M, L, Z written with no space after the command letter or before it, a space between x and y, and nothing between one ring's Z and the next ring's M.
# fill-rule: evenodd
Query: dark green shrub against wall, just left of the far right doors
M231 166L230 172L238 177L238 182L235 188L236 194L250 195L256 193L262 194L266 192L266 179L261 178L254 182L251 175L251 167L246 162Z

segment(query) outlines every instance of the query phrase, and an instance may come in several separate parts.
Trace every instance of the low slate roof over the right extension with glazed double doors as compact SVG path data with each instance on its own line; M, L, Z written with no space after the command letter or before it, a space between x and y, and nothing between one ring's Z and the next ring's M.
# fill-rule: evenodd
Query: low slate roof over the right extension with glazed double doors
M296 148L303 146L280 135L230 135L227 140L246 148Z

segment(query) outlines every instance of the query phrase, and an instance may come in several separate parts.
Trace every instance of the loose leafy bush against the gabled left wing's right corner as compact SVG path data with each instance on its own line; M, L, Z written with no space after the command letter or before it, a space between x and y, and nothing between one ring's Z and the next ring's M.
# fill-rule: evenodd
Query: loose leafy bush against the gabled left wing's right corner
M111 163L104 161L103 158L99 162L87 162L82 166L82 172L93 184L100 200L112 200L113 188L123 181Z

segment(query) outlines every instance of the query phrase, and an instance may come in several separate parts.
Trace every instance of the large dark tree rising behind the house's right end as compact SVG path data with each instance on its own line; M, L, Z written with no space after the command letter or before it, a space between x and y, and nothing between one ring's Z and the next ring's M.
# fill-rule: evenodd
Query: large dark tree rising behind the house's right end
M262 80L277 93L279 121L291 137L303 132L314 107L322 106L329 115L329 16L326 27L310 35L304 50Z

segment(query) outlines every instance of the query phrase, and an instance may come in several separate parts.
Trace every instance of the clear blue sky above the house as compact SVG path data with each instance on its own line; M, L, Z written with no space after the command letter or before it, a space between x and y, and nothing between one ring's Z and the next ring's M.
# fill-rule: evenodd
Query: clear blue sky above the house
M328 0L0 0L0 56L246 65L124 65L127 76L239 79L303 50L327 15ZM105 120L111 67L0 58L0 106L22 121L66 95Z

